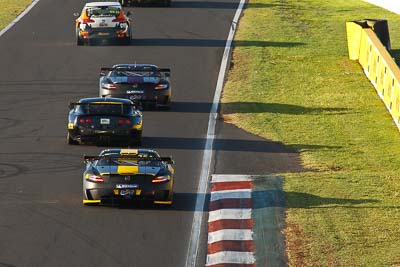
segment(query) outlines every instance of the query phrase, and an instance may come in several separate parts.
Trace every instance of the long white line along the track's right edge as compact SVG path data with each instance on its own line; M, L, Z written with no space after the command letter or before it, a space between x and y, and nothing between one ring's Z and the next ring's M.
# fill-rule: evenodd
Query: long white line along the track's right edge
M231 52L233 37L236 32L236 25L239 22L240 15L242 14L243 6L246 0L240 0L238 8L236 9L235 17L233 18L229 35L226 40L224 54L222 56L221 67L219 69L217 86L215 88L214 100L210 111L210 116L208 119L208 129L207 129L207 141L204 148L203 162L201 166L201 173L199 179L199 185L197 188L197 198L195 211L193 215L192 230L190 232L190 240L188 251L186 255L186 267L195 267L197 260L197 253L199 251L200 245L200 232L201 224L203 220L203 209L205 203L205 196L207 193L207 182L210 176L210 167L212 160L212 150L215 135L215 123L218 116L218 104L221 98L222 88L225 80L225 73L228 66L228 59Z

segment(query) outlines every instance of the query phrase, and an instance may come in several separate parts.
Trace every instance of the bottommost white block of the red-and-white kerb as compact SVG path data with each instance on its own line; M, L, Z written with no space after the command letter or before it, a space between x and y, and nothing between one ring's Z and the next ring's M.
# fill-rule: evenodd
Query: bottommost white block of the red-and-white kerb
M254 264L256 259L253 252L221 251L207 255L206 266L216 264Z

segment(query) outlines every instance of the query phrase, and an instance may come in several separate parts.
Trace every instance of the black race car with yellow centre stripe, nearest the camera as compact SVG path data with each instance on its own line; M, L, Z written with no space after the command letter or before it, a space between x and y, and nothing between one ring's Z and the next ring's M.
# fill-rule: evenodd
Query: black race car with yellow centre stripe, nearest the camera
M106 149L85 156L83 204L149 200L172 205L174 162L150 149Z

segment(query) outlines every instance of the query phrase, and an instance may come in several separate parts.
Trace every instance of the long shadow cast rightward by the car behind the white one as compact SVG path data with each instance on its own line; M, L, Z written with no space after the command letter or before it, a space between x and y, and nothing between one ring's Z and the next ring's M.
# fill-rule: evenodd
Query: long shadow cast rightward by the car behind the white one
M171 112L188 113L209 113L212 103L206 102L173 102ZM224 114L232 113L279 113L289 115L303 114L347 114L349 108L328 108L328 107L303 107L299 105L283 103L262 103L262 102L230 102L220 104Z

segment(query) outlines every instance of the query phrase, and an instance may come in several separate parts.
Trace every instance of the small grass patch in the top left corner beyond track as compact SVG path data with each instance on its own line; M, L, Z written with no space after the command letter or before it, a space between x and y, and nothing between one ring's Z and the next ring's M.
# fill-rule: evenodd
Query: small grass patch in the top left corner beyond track
M0 29L7 26L32 0L0 0Z

